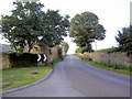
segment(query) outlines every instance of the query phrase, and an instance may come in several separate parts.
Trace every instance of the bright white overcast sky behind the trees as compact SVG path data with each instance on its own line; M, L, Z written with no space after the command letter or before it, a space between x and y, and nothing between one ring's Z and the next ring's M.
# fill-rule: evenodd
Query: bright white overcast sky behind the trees
M10 14L13 8L12 2L15 0L1 0L0 14ZM44 11L47 9L59 10L62 15L69 14L73 19L76 14L85 11L92 12L98 15L99 23L106 29L106 38L92 43L94 50L110 48L118 46L114 36L122 28L130 25L130 2L132 0L40 0L44 3ZM69 44L68 54L75 53L78 47L73 43L69 36L64 37L64 41ZM0 43L7 44L4 40ZM96 47L97 45L97 47Z

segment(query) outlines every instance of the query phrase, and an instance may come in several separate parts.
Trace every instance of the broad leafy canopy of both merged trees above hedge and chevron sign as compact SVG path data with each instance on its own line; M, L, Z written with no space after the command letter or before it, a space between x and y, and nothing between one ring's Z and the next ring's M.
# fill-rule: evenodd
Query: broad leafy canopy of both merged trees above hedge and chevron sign
M63 36L67 35L68 15L62 16L59 11L42 11L44 6L40 2L13 2L15 10L11 15L2 16L2 36L9 40L11 47L23 52L25 46L30 52L34 43L55 46L61 44Z

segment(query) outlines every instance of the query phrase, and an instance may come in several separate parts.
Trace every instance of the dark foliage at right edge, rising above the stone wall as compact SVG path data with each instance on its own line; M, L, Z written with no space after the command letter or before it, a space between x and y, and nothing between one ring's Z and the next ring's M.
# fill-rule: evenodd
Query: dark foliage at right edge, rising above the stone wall
M132 54L132 25L129 28L123 28L122 33L119 31L119 34L116 36L117 42L119 42L121 51Z

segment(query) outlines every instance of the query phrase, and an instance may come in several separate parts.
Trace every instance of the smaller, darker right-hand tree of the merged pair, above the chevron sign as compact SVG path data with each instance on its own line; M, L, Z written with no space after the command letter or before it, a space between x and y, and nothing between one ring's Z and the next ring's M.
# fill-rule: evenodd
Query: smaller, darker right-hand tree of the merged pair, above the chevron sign
M62 16L58 12L58 10L47 10L47 12L42 15L42 45L48 45L50 47L59 45L64 40L62 36L67 36L69 15Z

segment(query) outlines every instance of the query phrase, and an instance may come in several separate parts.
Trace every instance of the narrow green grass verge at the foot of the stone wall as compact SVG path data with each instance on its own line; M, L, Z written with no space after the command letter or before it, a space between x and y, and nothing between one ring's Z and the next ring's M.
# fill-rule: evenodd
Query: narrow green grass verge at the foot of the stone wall
M107 70L112 70L112 72L116 72L116 73L119 73L119 74L124 74L124 75L131 75L132 76L132 67L128 67L128 66L124 66L124 65L120 65L120 64L110 64L110 63L100 63L100 62L92 62L91 58L84 58L79 55L75 55L76 57L79 57L81 61L92 65L92 66L96 66L96 67L99 67L99 68L102 68L102 69L107 69ZM131 73L131 74L130 74Z

